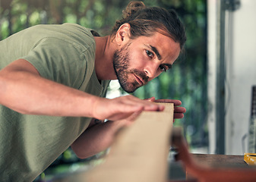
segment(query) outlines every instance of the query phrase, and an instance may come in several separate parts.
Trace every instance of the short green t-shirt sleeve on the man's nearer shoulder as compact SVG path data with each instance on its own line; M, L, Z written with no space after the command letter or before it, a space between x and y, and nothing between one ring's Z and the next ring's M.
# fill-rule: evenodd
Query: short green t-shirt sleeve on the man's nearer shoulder
M86 77L87 59L72 42L63 39L42 39L24 56L39 71L41 77L79 88Z

